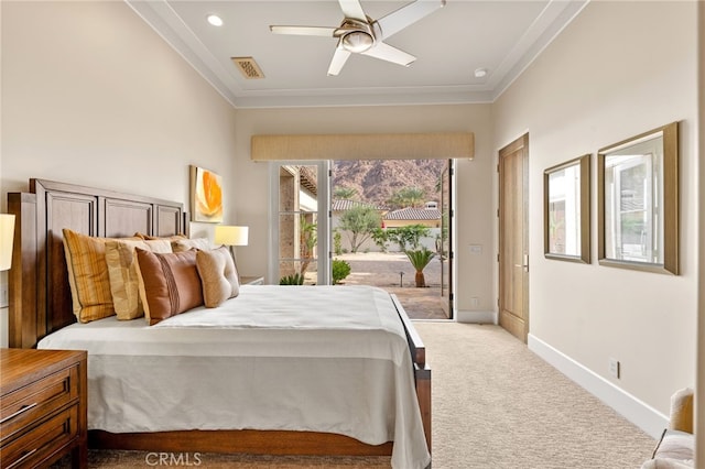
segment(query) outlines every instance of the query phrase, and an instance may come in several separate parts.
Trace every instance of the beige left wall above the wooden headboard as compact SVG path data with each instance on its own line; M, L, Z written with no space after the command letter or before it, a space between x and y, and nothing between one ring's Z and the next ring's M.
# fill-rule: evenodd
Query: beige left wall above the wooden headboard
M30 177L188 209L189 164L232 194L236 111L126 3L0 4L0 210ZM226 210L232 219L235 205ZM7 310L0 329L7 345Z

